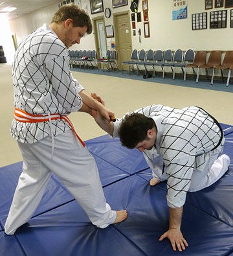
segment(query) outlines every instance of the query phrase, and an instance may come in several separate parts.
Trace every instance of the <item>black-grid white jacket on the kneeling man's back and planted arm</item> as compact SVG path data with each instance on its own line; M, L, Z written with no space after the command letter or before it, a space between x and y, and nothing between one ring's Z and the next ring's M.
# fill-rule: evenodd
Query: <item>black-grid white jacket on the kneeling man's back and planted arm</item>
M205 153L215 148L221 139L219 128L208 113L195 107L177 110L151 105L137 112L160 118L162 135L159 150L167 167L168 196L185 199L196 157L202 155L201 165L205 165Z

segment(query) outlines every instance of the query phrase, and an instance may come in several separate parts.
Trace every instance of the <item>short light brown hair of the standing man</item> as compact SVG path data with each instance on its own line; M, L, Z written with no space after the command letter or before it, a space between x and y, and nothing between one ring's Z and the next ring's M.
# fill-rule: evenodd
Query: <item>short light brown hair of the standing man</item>
M70 4L70 5L63 5L61 6L57 12L52 17L51 23L61 23L66 21L67 19L72 19L74 27L87 27L87 34L91 34L93 30L93 25L91 23L91 18L83 10L77 5Z

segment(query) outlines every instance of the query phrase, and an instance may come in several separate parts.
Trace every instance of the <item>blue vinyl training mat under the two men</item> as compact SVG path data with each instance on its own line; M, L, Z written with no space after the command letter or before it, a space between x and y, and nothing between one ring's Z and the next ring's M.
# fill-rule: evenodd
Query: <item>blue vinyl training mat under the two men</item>
M184 255L233 253L233 128L221 125L230 167L214 185L188 192L181 227L189 244ZM122 147L118 139L104 135L85 143L96 160L107 202L112 209L126 209L128 218L98 229L52 175L32 219L15 235L5 235L22 162L8 165L0 168L0 256L177 255L168 239L159 242L169 223L166 182L150 187L151 170L142 153Z

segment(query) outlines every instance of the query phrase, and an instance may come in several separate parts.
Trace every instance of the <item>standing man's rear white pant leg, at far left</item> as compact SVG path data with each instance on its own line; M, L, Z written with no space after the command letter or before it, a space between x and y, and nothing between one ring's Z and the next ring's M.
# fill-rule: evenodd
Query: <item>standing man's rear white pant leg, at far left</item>
M51 172L38 157L28 148L19 143L23 156L23 172L14 193L14 198L5 224L5 233L14 235L16 229L28 222L41 201Z

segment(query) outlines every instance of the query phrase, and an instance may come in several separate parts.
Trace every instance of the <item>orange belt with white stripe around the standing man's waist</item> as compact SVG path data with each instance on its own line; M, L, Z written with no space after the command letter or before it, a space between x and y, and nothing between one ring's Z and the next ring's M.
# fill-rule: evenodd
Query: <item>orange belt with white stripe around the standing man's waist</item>
M74 126L72 125L72 122L69 120L69 118L66 115L60 115L58 114L52 114L50 115L32 115L30 113L27 113L23 110L19 110L18 108L15 108L14 112L14 118L19 121L19 122L45 122L50 120L55 120L55 119L63 119L68 122L68 124L71 126L72 130L74 131L74 134L76 134L74 130ZM82 143L83 146L85 146L85 143L83 143L82 139L76 134L80 142Z

